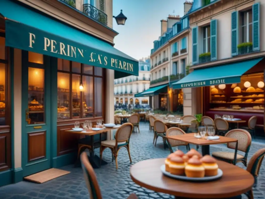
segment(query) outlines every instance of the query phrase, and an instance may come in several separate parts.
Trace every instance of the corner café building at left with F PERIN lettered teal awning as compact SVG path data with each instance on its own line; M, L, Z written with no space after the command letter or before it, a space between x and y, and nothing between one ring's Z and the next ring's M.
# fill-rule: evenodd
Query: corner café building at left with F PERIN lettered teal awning
M73 163L76 121L114 123L114 77L139 67L112 21L112 0L0 2L0 186Z

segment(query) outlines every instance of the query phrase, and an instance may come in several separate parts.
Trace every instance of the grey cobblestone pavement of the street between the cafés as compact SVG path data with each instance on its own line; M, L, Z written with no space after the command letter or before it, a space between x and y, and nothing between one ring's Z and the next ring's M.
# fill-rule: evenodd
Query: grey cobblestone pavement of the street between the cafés
M133 164L149 158L164 158L169 154L169 150L164 150L162 139L158 138L157 146L153 145L153 133L148 132L148 123L140 124L141 133L133 133L131 137L131 158ZM192 148L194 146L191 145ZM252 142L249 157L258 149L263 148L264 144ZM180 147L184 152L185 147ZM225 145L212 145L210 151L227 151ZM96 150L99 154L99 150ZM130 161L127 150L121 149L118 155L118 171L116 171L115 161L111 161L111 151L106 149L103 153L103 159L108 162L107 165L95 169L99 181L101 193L104 199L123 199L127 198L130 193L136 193L140 199L156 198L174 198L173 196L156 193L152 190L145 189L135 184L130 178ZM249 158L250 159L250 158ZM238 164L243 166L243 164ZM73 168L73 165L64 166L61 169L71 171L70 174L50 180L43 184L36 184L22 181L17 184L7 185L0 188L1 199L87 199L88 191L83 178L82 169ZM254 188L255 198L265 198L265 166L264 162L260 168L258 186ZM242 198L246 198L242 195Z

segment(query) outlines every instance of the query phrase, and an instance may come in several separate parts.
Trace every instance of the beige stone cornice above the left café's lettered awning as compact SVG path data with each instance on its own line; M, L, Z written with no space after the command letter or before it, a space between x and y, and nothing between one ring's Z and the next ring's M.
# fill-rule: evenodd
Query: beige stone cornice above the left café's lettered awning
M72 8L68 5L66 5L65 3L61 2L61 1L56 1L56 0L18 0L30 7L33 7L41 12L44 12L47 15L50 15L60 21L63 21L64 23L67 23L75 28L78 28L84 32L87 32L93 36L99 37L109 43L111 43L112 45L114 45L113 43L113 38L115 36L118 35L118 33L116 31L114 31L113 29L99 23L98 21L89 18L88 16L86 16L85 14L83 14L81 11ZM48 6L47 6L48 5ZM51 7L49 7L51 6ZM65 19L62 18L62 16L59 15L60 12L55 12L55 10L61 11L64 14L69 15L72 19ZM112 17L112 16L108 16L108 17ZM80 26L77 23L75 23L74 21L78 20L81 21L82 23L88 25L89 27L85 27L85 26ZM109 36L109 38L105 38L103 35L101 34L97 34L96 31L92 31L90 27L93 27L94 29L98 30L99 33L104 33L107 34ZM112 39L111 39L112 38Z

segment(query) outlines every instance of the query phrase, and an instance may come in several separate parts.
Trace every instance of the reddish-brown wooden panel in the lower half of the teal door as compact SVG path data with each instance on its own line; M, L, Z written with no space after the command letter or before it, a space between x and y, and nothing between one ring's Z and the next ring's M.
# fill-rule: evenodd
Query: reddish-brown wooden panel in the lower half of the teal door
M28 133L28 161L46 157L46 131Z

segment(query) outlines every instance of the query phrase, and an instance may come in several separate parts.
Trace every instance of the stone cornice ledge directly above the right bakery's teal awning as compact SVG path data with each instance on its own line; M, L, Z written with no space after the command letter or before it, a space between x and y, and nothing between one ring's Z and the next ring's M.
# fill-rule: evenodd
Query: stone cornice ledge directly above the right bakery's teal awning
M258 52L258 53L249 53L247 55L237 55L236 57L232 57L228 59L221 59L217 61L211 61L211 62L207 62L203 64L193 65L193 66L190 66L190 70L206 68L206 67L211 67L211 66L218 66L222 64L231 63L231 62L240 62L246 59L254 59L254 58L259 58L259 57L265 57L265 51Z

